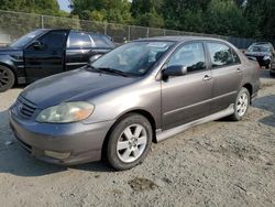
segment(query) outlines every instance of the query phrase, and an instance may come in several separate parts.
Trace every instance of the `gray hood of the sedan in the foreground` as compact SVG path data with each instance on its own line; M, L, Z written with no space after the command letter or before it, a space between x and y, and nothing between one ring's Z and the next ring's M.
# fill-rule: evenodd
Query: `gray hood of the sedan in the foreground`
M65 101L85 101L92 97L129 85L136 78L76 69L54 75L26 87L20 96L40 109Z

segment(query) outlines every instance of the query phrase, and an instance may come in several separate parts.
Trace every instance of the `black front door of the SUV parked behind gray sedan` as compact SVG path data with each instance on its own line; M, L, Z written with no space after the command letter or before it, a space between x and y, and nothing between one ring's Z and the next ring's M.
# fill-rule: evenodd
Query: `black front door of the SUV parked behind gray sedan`
M25 72L33 81L64 72L66 31L50 31L24 50Z

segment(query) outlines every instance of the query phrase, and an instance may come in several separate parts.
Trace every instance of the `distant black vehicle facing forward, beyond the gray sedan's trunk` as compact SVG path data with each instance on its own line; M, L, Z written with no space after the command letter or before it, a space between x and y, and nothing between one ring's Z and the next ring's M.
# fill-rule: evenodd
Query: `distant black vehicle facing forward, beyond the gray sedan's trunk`
M258 64L267 69L273 68L275 64L275 51L272 43L268 42L253 43L245 52L245 55L256 58Z

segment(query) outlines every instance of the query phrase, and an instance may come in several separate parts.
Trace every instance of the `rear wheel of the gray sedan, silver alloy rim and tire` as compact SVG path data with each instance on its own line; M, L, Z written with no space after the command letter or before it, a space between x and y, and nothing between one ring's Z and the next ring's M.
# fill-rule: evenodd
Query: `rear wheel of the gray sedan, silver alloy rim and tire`
M241 88L238 92L235 103L234 103L234 113L230 116L230 119L233 121L240 121L246 115L250 107L250 92L246 88Z

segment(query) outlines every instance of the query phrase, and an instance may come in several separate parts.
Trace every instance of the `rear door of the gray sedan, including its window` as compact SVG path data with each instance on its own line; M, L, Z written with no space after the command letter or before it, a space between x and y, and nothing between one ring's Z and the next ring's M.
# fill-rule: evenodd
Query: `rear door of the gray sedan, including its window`
M212 72L211 111L218 112L234 103L242 81L240 57L223 42L207 42Z

